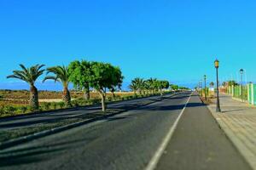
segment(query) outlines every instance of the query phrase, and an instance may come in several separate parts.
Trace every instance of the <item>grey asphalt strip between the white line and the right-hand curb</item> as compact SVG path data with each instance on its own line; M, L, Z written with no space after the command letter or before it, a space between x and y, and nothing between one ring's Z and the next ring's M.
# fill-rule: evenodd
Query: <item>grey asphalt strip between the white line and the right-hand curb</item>
M251 169L218 127L197 95L192 95L157 170Z

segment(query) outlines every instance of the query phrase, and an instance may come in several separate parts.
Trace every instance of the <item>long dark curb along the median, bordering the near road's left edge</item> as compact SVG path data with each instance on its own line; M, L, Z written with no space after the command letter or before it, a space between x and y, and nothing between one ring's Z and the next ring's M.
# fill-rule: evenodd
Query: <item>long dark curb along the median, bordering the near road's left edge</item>
M172 94L170 97L173 97L173 96L176 96L177 94ZM157 101L154 101L154 102L151 102L151 103L148 103L146 105L151 105L155 102L159 102L162 100L161 98L162 96L160 96L159 100ZM140 105L138 107L141 107L141 106L145 106L145 105ZM137 108L137 107L135 107ZM134 108L133 108L134 109ZM132 109L131 109L132 110ZM120 113L123 113L125 111L129 111L129 109L125 109L124 111L118 111L116 113L112 113L112 114L109 114L109 115L105 115L105 116L99 116L99 117L95 117L95 118L91 118L91 119L87 119L87 120L84 120L84 121L80 121L80 122L74 122L74 123L71 123L71 124L67 124L65 126L62 126L62 127L55 127L55 128L52 128L52 129L49 129L49 130L44 130L42 132L38 132L38 133L33 133L33 134L29 134L29 135L26 135L26 136L22 136L20 138L17 138L17 139L11 139L9 141L5 141L5 142L2 142L0 143L0 150L3 150L3 149L7 149L9 147L12 147L12 146L15 146L17 144L22 144L22 143L26 143L28 141L31 141L33 139L39 139L39 138L42 138L44 136L48 136L50 134L54 134L54 133L60 133L64 130L68 130L68 129L71 129L73 127L79 127L81 125L84 125L84 124L87 124L87 123L90 123L90 122L96 122L96 121L99 121L99 120L102 120L102 119L105 119L105 118L108 118L110 116L115 116L115 115L118 115Z

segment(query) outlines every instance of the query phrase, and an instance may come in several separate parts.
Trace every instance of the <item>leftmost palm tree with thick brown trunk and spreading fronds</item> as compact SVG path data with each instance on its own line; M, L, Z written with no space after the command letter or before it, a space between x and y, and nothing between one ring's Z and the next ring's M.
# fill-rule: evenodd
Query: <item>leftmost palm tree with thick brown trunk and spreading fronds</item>
M21 65L21 71L13 71L13 75L8 76L7 78L17 78L24 82L27 82L30 85L30 98L29 103L32 109L38 110L38 88L35 87L35 82L44 73L42 67L44 65L32 65L30 68L26 68L24 65Z

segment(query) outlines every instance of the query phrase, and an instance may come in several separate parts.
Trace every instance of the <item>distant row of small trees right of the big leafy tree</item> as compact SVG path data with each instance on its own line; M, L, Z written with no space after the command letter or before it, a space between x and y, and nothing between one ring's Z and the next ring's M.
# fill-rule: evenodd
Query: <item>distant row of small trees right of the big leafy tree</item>
M158 80L156 78L149 78L144 80L143 78L137 77L131 80L129 88L136 95L137 93L142 94L155 94L160 92L162 95L162 90L169 88L170 84L166 80Z

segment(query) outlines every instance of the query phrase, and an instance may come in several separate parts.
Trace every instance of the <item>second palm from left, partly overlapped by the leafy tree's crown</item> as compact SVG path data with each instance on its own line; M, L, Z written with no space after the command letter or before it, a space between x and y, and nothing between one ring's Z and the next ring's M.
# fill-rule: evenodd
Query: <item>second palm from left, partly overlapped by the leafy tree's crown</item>
M47 68L47 75L49 73L53 73L55 74L55 76L47 76L44 78L43 82L45 82L46 80L54 80L55 82L61 82L63 86L62 99L66 103L66 105L70 105L71 97L68 90L70 74L68 73L67 70L68 70L67 66L64 66L64 65L49 67Z

